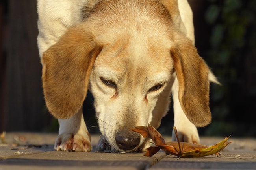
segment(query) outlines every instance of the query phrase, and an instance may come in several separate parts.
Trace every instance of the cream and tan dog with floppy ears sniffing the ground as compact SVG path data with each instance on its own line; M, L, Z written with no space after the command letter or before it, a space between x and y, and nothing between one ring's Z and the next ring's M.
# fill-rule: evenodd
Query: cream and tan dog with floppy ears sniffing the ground
M37 11L57 151L92 150L82 113L88 89L102 133L97 150L144 151L150 143L130 129L158 128L171 96L179 139L199 143L197 127L211 122L209 83L218 81L195 48L187 0L38 0Z

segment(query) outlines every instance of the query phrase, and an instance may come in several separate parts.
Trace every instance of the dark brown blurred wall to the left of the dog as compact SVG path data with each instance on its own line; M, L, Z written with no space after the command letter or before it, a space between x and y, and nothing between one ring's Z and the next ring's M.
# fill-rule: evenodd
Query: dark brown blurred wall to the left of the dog
M41 130L45 124L35 0L1 3L1 130ZM4 41L3 41L4 40ZM3 69L1 68L1 69Z

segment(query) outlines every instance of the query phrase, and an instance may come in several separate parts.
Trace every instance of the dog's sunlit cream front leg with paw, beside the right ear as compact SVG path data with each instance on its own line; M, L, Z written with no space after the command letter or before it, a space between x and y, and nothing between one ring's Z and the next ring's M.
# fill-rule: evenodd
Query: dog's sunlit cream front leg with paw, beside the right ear
M179 87L176 77L172 87L172 95L174 109L174 126L176 126L178 130L178 138L180 139L180 141L199 144L197 127L187 119L185 113L183 112L178 99L178 91ZM174 131L172 134L172 140L177 141Z

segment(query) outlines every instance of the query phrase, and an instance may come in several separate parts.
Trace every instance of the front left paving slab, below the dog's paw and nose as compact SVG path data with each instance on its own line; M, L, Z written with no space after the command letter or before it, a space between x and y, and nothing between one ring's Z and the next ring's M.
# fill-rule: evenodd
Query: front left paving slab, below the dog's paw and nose
M6 159L0 162L0 170L35 169L122 169L122 170L144 170L157 163L157 155L154 157L143 157L141 153L115 154L95 152L56 152L48 151L42 154L25 155L14 159ZM2 167L2 169L1 169Z

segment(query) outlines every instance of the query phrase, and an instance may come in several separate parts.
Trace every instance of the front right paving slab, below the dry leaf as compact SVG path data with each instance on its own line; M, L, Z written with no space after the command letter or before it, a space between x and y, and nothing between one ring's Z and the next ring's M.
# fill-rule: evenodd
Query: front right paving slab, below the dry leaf
M224 153L221 157L182 158L167 156L150 170L256 170L256 157L252 153ZM239 157L238 157L239 156Z

